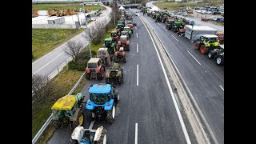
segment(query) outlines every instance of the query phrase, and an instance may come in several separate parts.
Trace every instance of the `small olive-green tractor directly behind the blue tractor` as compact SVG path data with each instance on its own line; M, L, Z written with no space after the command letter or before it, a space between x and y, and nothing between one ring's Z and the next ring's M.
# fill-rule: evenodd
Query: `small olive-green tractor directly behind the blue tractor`
M106 69L106 83L108 84L122 84L123 83L123 73L120 65L118 63L113 64L112 68Z

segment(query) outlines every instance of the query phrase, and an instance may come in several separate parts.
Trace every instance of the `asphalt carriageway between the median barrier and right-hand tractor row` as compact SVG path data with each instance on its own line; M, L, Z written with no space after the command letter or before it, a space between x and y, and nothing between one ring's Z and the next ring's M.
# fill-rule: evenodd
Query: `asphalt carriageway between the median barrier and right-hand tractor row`
M164 23L143 17L173 58L218 143L224 143L224 66L194 50L194 43L187 38L166 30Z

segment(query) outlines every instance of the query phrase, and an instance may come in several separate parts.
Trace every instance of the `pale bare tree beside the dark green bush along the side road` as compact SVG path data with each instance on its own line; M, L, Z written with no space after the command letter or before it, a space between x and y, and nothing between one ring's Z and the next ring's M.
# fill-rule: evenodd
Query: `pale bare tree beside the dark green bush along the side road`
M74 62L76 62L76 56L78 55L81 49L82 49L81 42L70 41L70 42L67 42L67 47L64 51L66 54L70 55L74 59Z

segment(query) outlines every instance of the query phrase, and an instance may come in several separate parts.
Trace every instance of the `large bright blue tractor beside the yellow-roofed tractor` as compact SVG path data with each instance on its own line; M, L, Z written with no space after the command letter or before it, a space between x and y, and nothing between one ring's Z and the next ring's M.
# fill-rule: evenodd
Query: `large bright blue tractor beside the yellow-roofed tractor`
M115 86L99 83L90 86L90 99L86 102L90 121L106 120L114 122L115 106L119 101L119 93Z

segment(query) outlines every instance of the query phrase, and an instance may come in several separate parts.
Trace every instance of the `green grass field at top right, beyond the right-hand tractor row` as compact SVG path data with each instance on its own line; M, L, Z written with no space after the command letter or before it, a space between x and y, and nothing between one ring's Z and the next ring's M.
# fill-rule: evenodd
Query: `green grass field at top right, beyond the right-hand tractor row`
M186 2L155 2L154 6L162 10L177 11L184 6L218 6L222 2L208 2L208 3L186 3Z

